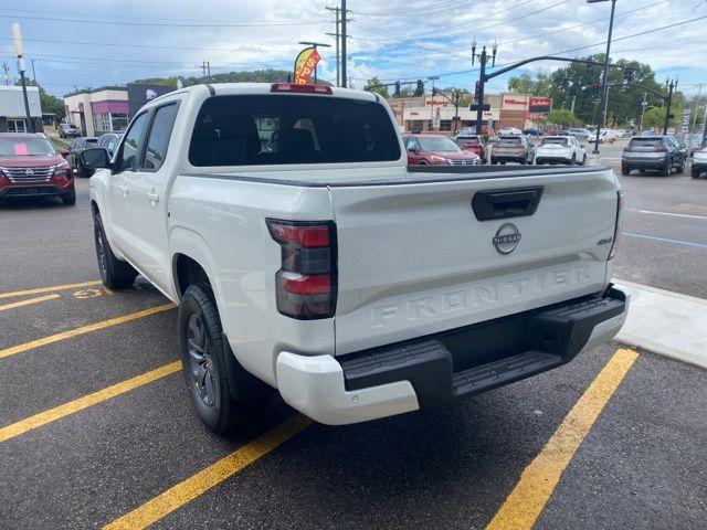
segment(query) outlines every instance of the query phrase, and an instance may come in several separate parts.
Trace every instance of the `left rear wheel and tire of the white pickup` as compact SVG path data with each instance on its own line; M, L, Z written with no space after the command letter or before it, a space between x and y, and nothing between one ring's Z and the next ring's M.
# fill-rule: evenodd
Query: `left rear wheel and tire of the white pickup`
M260 412L270 392L233 358L209 285L187 288L177 326L184 383L201 422L223 434Z

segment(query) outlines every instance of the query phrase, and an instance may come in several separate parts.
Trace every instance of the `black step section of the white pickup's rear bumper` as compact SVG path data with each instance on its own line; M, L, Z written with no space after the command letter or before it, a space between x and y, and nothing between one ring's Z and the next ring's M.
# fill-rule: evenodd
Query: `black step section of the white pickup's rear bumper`
M420 407L445 405L457 396L571 361L590 338L612 337L626 309L624 292L610 287L603 294L351 353L337 361L347 391L410 381ZM602 322L610 320L612 326L603 329Z

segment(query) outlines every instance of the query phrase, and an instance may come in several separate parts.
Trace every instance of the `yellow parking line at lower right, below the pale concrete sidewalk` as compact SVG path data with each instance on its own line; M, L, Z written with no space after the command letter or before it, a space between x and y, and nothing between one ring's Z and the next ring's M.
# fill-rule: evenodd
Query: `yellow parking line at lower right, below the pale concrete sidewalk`
M637 357L632 350L616 350L540 454L525 468L486 530L523 530L535 524L574 452Z

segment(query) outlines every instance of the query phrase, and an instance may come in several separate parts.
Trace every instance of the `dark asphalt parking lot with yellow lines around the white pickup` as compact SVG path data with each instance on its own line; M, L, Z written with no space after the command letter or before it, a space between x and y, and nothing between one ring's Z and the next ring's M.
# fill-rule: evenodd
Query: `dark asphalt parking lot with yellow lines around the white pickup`
M707 180L622 182L615 275L707 298ZM0 528L705 528L707 372L616 342L450 409L328 427L273 396L214 436L176 310L99 285L77 195L0 205Z

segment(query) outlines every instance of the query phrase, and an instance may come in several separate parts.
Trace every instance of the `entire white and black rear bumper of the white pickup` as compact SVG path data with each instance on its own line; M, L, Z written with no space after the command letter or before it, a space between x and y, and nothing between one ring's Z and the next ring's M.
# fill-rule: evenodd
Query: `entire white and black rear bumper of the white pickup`
M282 352L283 399L329 425L445 405L571 361L614 337L630 295L612 287L541 309L344 356Z

